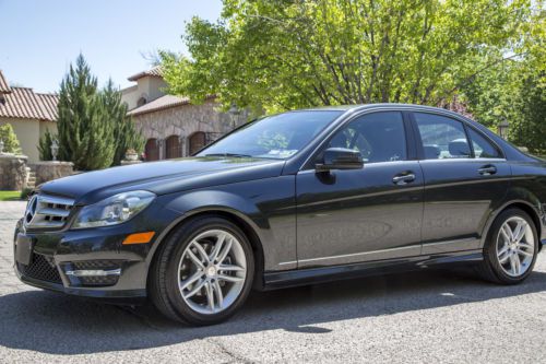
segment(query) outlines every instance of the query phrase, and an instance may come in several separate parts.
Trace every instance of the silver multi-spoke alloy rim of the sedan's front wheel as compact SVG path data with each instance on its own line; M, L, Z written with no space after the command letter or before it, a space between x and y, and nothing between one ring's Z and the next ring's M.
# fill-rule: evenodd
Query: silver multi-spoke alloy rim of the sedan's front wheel
M192 310L217 314L240 295L246 275L241 243L227 231L209 230L186 247L178 265L178 287Z

